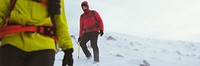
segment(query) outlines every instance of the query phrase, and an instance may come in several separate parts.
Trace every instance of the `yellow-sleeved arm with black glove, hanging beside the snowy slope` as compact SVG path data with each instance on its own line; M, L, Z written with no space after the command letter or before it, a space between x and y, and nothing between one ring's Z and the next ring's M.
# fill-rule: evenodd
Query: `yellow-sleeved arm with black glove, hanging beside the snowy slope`
M64 9L64 0L61 0L61 14L55 15L55 28L59 42L59 47L62 48L64 54L62 66L73 66L73 44L68 30L66 14Z

